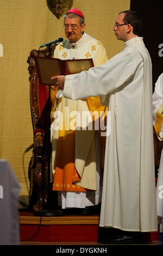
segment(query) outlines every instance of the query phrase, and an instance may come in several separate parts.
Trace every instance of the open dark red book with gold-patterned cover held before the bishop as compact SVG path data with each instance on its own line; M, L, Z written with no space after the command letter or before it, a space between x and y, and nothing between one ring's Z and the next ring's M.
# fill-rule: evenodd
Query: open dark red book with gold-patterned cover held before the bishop
M77 74L83 70L89 70L93 64L92 59L57 59L49 57L34 57L39 82L42 85L53 86L57 80L51 80L52 76Z

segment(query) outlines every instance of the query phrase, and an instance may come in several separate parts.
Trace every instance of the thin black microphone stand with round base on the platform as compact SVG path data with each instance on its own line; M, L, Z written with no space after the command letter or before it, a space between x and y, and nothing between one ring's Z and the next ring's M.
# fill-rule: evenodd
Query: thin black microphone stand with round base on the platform
M39 48L40 49L40 48ZM51 46L49 46L49 57L51 57ZM51 210L51 86L48 86L48 127L47 127L47 156L48 156L48 195L47 195L47 208L46 210L40 210L34 212L35 216L54 217L63 216L60 210ZM46 150L45 150L46 152ZM46 155L45 155L46 158ZM46 160L45 160L46 161ZM43 176L43 175L42 175ZM44 175L45 176L45 175ZM44 183L44 182L43 182ZM44 200L43 200L44 202Z

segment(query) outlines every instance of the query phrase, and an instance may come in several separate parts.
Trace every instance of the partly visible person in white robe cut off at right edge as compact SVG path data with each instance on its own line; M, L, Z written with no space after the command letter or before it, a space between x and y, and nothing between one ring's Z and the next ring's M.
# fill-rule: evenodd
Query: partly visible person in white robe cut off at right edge
M163 142L163 73L155 83L153 93L153 126L159 141ZM163 149L161 151L158 181L156 185L157 214L160 219L160 233L163 233Z

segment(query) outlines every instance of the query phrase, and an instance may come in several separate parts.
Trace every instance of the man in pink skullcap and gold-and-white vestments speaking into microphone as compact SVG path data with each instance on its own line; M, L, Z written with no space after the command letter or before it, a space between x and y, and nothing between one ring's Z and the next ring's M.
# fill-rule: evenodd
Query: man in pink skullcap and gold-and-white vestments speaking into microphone
M82 25L78 25L80 21L79 16L70 16L70 13L79 13L79 15L82 15L82 17L84 17L81 11L77 9L68 11L68 16L65 18L64 22L65 27L67 26L67 28L65 28L65 34L67 36L67 39L65 39L63 42L57 45L54 51L54 58L59 58L62 60L92 58L93 64L95 66L105 63L108 60L108 57L106 56L104 46L101 44L100 41L92 38L92 36L83 32L85 23ZM80 120L78 120L78 118L76 118L76 115L73 113L77 112L82 119L83 111L88 113L90 111L97 111L98 109L103 109L103 111L105 111L106 107L103 107L101 105L101 102L99 99L97 99L97 97L92 97L90 99L78 101L65 99L65 97L62 95L62 90L58 90L57 100L53 101L54 122L52 124L51 131L51 167L54 175L53 190L57 190L58 194L60 195L59 204L62 206L62 209L85 208L85 206L97 205L98 203L101 202L102 196L102 186L100 184L102 162L101 141L99 139L97 131L83 129L84 127L81 126L82 123L80 122ZM57 113L61 113L61 117L63 117L64 120L62 120L61 117L58 117ZM62 122L64 123L64 125ZM58 123L59 129L55 129L55 124ZM72 123L76 124L72 126ZM76 127L78 127L78 129L76 129ZM75 141L74 146L73 138ZM60 141L62 141L61 151L59 151L61 145ZM66 156L64 156L63 151L66 147L67 152ZM72 157L68 157L68 154L72 155L71 151L72 154L74 151L73 157L75 168L77 169L77 172L80 175L80 177L82 177L79 182L76 181L75 183L71 182L71 180L67 181L65 178L68 171L70 169L73 169ZM63 158L67 158L67 162L65 161L64 163ZM58 159L59 163L57 162ZM62 170L60 166L64 166L65 168L63 168L64 174L62 175Z

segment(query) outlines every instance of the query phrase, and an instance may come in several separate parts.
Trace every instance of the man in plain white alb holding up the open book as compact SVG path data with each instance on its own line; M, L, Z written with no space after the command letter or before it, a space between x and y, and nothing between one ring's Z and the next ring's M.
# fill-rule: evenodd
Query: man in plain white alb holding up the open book
M117 39L124 41L124 50L89 71L58 76L56 86L64 87L64 96L73 100L100 95L111 112L99 225L146 232L156 231L158 222L152 64L138 36L140 28L139 14L130 10L120 13L113 30Z

